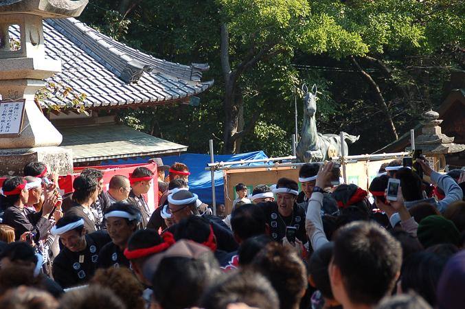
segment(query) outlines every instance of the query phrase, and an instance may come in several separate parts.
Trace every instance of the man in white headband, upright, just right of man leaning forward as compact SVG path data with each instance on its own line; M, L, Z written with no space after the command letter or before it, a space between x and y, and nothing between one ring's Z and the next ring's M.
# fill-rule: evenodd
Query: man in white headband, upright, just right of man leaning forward
M141 222L141 212L134 205L118 202L106 209L104 216L111 242L98 255L99 268L129 267L129 260L123 253Z

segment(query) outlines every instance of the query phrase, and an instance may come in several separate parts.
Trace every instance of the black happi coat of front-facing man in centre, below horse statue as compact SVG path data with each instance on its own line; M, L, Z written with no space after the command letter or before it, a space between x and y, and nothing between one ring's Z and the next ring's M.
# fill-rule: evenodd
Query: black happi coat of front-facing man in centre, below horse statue
M286 236L286 227L293 226L297 227L297 233L295 237L298 238L302 243L307 242L307 236L305 232L305 211L302 207L294 204L293 214L288 217L280 215L278 211L278 205L276 202L266 202L258 204L262 207L266 222L270 227L270 236L274 240L280 241Z

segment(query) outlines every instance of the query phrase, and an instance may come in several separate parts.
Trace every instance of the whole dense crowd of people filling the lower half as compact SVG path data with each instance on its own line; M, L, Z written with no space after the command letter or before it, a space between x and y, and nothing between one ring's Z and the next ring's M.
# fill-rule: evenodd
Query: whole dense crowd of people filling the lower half
M332 162L306 163L251 194L239 183L231 214L221 205L214 216L189 190L188 166L153 161L155 174L138 167L107 190L87 168L61 194L41 162L5 179L0 308L465 306L465 170L418 159L422 179L394 160L365 191L335 185Z

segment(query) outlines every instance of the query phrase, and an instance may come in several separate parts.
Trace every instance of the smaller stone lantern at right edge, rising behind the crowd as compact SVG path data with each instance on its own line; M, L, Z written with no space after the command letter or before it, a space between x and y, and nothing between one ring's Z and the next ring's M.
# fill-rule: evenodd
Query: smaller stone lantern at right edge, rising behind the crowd
M439 113L427 111L422 115L420 124L422 134L415 138L415 148L421 149L423 155L430 160L435 170L442 171L446 168L446 157L444 155L465 150L465 145L454 144L454 137L448 137L441 132L442 123ZM410 150L410 148L407 148Z

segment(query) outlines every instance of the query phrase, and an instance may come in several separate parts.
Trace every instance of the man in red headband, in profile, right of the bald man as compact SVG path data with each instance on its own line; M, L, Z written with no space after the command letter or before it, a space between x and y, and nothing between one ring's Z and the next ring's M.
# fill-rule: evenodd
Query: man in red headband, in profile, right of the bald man
M147 201L142 194L146 194L150 190L150 181L153 179L153 173L148 168L135 168L129 176L131 183L131 192L129 193L128 203L135 205L141 212L141 228L147 227L147 222L150 219L151 211L148 208Z

